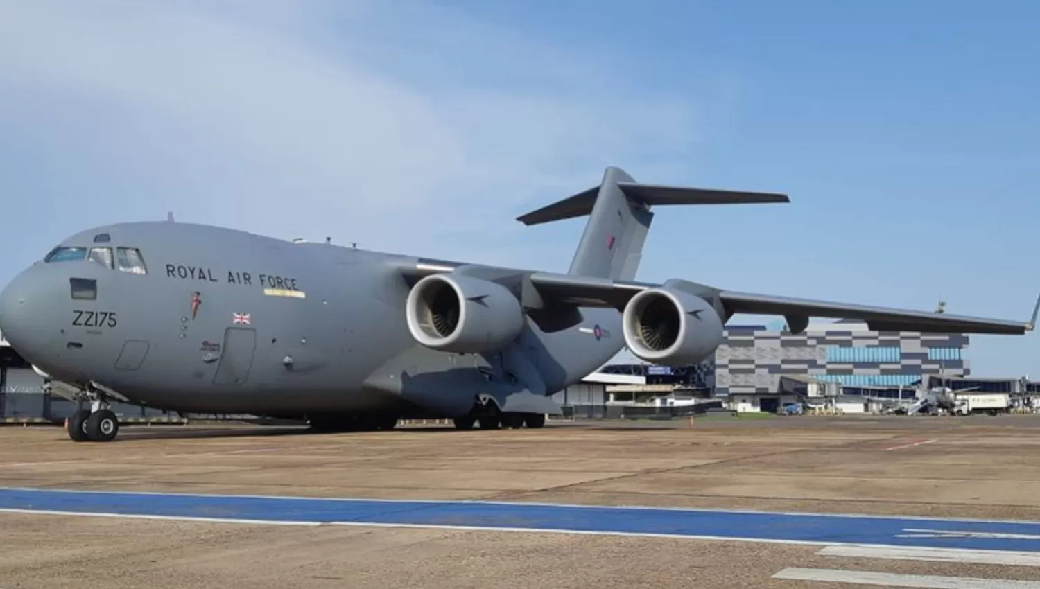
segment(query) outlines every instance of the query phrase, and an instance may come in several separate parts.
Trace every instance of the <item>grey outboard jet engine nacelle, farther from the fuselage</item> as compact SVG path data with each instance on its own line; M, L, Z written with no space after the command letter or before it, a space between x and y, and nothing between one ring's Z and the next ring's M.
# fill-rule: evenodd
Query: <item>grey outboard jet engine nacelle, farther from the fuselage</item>
M668 288L633 296L625 305L622 329L636 357L673 366L708 359L724 337L722 319L706 300Z

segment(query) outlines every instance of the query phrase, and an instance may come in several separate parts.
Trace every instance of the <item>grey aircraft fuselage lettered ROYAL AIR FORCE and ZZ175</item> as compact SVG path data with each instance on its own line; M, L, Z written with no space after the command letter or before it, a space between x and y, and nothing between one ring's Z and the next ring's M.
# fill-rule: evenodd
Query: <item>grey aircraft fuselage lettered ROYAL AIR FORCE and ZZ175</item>
M99 235L108 241L96 243ZM551 394L623 345L620 314L588 309L581 324L551 334L525 319L511 346L520 356L420 346L396 271L416 258L174 222L93 229L62 246L109 247L116 260L35 264L11 286L33 309L19 317L32 319L6 326L8 339L59 380L167 410L454 417L478 393L477 370L494 379L534 366ZM120 271L119 247L136 248L147 273ZM94 280L93 298L73 292L75 278ZM566 367L552 359L562 352Z

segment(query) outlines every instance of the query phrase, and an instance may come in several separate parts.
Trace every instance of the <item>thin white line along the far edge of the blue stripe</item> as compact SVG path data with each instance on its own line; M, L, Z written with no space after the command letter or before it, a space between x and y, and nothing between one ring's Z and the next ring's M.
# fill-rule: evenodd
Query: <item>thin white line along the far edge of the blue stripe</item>
M260 500L292 500L292 501L335 501L344 503L419 503L431 505L506 505L506 506L532 506L532 507L567 507L575 509L618 509L618 510L642 510L642 511L684 511L690 513L739 513L750 515L789 515L789 516L811 516L811 517L834 517L847 519L906 519L914 521L963 521L966 524L1021 524L1025 526L1040 526L1040 519L986 519L971 517L929 517L927 515L872 515L869 513L817 513L812 511L762 511L755 509L723 509L712 507L654 507L649 505L589 505L571 503L545 503L525 501L492 501L492 500L437 500L437 499L373 499L373 498L348 498L348 497L303 497L303 496L278 496L278 494L220 494L220 493L189 493L189 492L165 492L165 491L119 491L119 490L87 490L87 489L58 489L58 488L36 488L36 487L0 487L0 491L27 491L27 492L61 492L79 494L125 494L142 497L192 497L192 498L225 498L225 499L260 499Z

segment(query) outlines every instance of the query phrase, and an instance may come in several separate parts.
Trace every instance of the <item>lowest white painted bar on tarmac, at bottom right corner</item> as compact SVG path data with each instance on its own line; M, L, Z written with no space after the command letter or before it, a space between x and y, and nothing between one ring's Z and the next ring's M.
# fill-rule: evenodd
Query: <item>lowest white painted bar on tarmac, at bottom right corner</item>
M821 581L885 587L921 587L925 589L1040 589L1040 581L1008 581L1004 579L971 579L936 574L896 574L865 570L834 570L830 568L785 568L773 579L788 581Z

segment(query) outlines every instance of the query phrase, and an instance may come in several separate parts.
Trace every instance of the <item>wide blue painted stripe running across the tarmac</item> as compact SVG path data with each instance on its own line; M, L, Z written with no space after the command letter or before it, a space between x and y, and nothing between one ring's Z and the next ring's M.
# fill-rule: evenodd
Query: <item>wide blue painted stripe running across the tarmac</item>
M0 509L269 523L509 529L1040 553L1040 521L478 501L380 501L0 488Z

